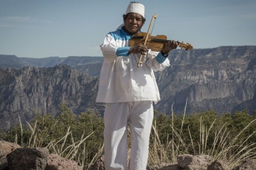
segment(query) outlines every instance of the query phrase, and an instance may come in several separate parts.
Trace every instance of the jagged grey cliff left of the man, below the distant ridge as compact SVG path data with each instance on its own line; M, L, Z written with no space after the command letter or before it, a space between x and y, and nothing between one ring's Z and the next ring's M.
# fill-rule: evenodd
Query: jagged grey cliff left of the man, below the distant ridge
M98 78L66 65L53 68L0 68L1 127L29 120L36 111L58 114L66 103L74 113L96 109Z

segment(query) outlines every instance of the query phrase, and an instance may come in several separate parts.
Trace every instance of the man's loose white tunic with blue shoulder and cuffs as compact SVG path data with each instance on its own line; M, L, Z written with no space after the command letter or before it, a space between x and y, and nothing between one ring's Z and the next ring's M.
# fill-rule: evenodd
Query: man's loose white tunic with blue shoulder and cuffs
M149 50L143 56L143 64L137 67L140 54L128 54L129 40L132 35L119 29L106 35L100 45L104 62L102 65L99 91L96 102L116 103L150 100L157 102L160 95L153 71L162 71L168 67L165 58L159 63L159 52ZM160 53L158 58L163 56Z

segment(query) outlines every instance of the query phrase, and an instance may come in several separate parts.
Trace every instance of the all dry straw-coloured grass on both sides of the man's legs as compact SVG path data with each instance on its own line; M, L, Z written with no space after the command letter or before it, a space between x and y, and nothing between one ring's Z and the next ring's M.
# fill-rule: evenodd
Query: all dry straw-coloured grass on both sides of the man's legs
M229 141L230 138L228 138L230 132L228 132L225 125L223 125L219 131L214 132L214 141L211 144L211 148L208 148L207 146L209 145L207 143L209 133L212 131L212 127L217 126L215 124L215 120L212 121L209 129L207 129L207 127L204 125L204 121L201 118L199 141L193 140L189 127L187 128L189 130L190 139L184 139L182 133L185 113L186 107L180 129L176 129L174 127L174 120L172 119L172 124L170 125L172 134L166 134L166 143L163 143L158 135L156 122L153 123L151 133L152 142L150 143L149 147L148 165L155 165L163 162L177 163L176 157L183 153L191 155L206 154L212 156L213 160L220 159L227 162L230 168L241 164L242 161L248 158L256 158L256 143L247 144L248 139L250 139L255 131L249 136L246 136L243 142L239 141L239 136L241 136L241 134L243 134L248 127L253 125L256 122L256 119L244 127L244 129L241 130L231 141ZM172 118L174 118L173 114L174 113L172 111ZM21 147L42 147L45 139L49 136L50 130L44 129L36 131L37 122L35 122L33 127L27 122L27 126L30 130L30 136L28 144L25 144L23 141L22 125L20 123L22 138ZM50 141L47 148L49 149L50 153L55 153L63 158L75 160L80 166L84 167L84 169L89 170L91 165L103 154L104 151L104 146L102 145L99 147L98 153L96 153L92 159L90 156L88 156L90 154L90 148L86 148L84 143L90 135L82 135L79 141L74 141L72 132L70 131L70 128L68 128L65 136L62 136L58 140L54 139ZM67 138L71 139L72 144L67 144ZM187 141L189 141L189 144L186 143ZM17 143L17 134L15 142Z

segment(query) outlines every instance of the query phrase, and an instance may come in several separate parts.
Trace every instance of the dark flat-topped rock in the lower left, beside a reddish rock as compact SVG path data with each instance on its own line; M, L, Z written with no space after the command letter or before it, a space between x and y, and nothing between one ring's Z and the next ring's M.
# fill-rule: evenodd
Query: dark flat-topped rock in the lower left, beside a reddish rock
M7 157L9 170L44 170L49 152L47 148L17 148Z

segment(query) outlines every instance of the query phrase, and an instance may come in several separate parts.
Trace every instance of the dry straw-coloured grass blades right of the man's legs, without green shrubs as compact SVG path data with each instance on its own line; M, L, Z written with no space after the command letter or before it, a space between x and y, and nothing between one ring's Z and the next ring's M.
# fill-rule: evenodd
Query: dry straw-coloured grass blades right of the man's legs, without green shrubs
M186 111L186 107L185 107ZM185 116L185 111L183 114L183 121ZM172 118L173 111L172 111ZM256 119L251 121L243 130L241 130L235 138L230 141L228 138L229 133L225 125L221 127L219 131L215 131L214 142L211 144L211 148L207 144L209 133L212 130L213 126L218 126L215 124L215 120L212 121L209 129L204 125L204 121L200 121L200 140L194 141L190 133L189 127L189 136L190 139L184 139L182 136L183 133L183 121L180 129L175 129L172 119L172 134L167 134L167 142L163 143L158 136L158 130L156 123L152 125L153 133L151 134L152 142L149 147L149 157L148 165L160 164L160 163L177 163L176 157L180 154L190 154L190 155L209 155L212 156L212 160L220 159L227 162L230 168L236 167L241 164L246 159L256 158L256 143L247 144L248 139L255 133L255 131L246 136L244 141L239 140L239 136L244 133L244 131L253 125L256 122ZM172 138L169 140L169 136ZM185 141L189 140L189 144L186 144ZM176 142L175 142L176 141ZM192 150L192 151L191 151Z

